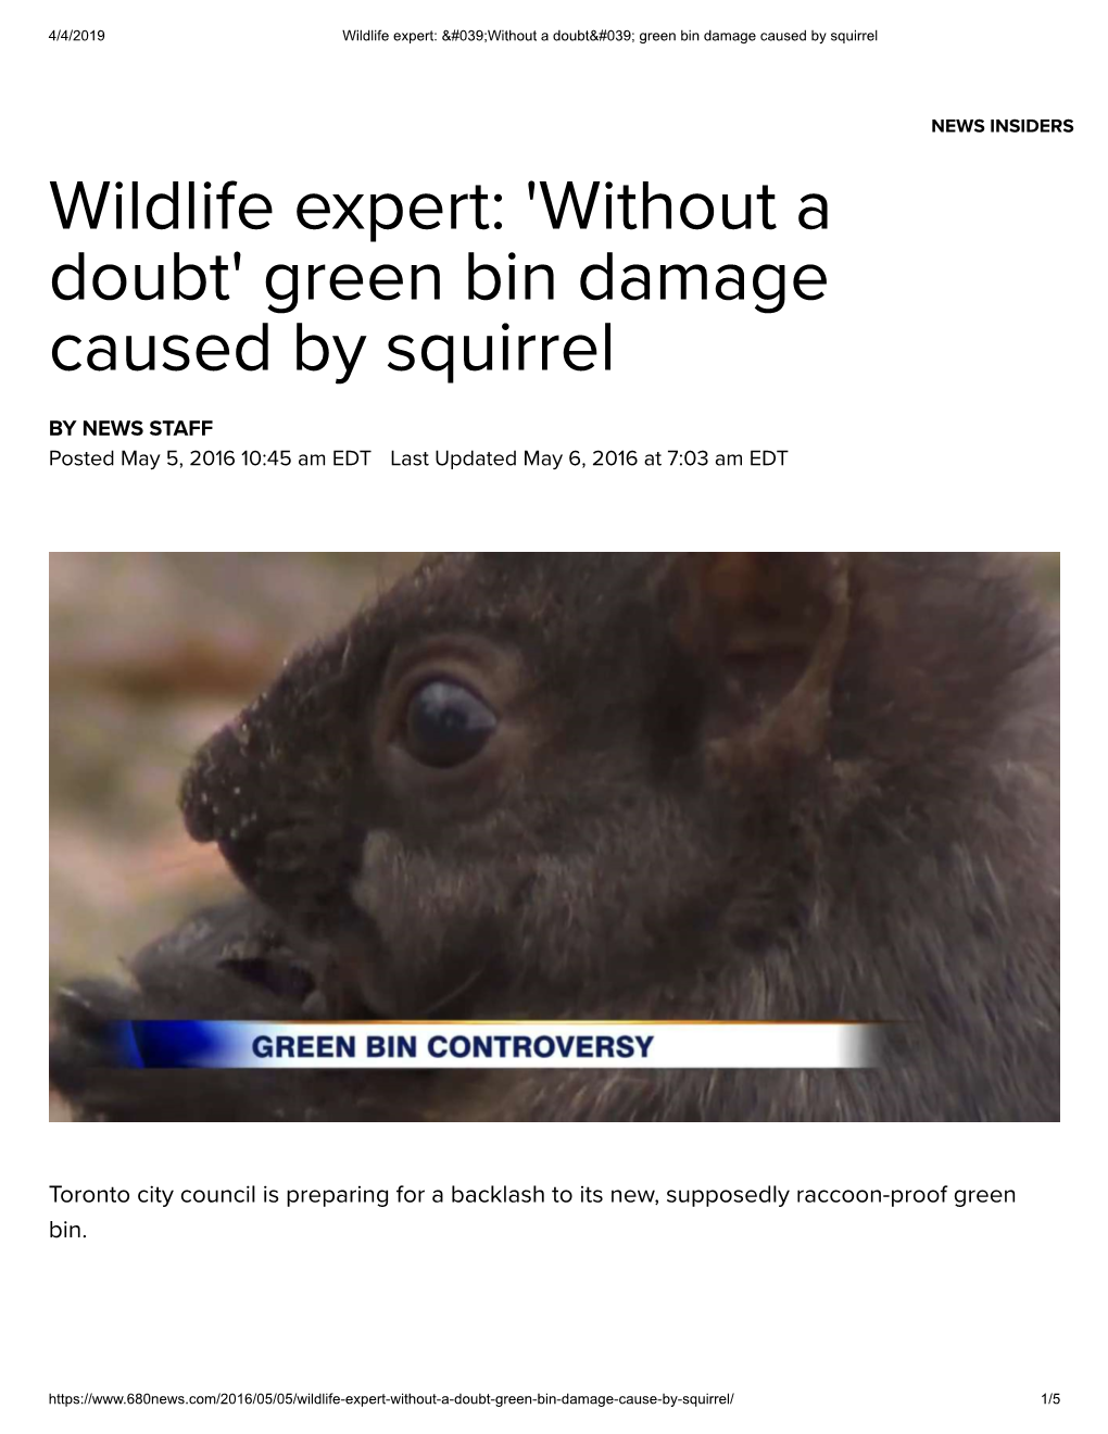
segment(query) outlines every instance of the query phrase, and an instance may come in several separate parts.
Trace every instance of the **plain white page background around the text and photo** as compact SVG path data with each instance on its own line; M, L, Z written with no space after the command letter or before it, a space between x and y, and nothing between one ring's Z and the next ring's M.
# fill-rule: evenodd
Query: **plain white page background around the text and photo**
M50 549L1028 548L1065 554L1066 733L1081 756L1068 810L1066 1104L1058 1127L172 1127L47 1126L42 1020L43 845L20 835L9 939L20 1021L9 1288L13 1375L36 1423L195 1427L176 1410L62 1410L46 1394L737 1391L730 1410L358 1412L204 1410L205 1425L386 1428L1005 1428L1095 1425L1101 1276L1089 1265L1101 1190L1098 1004L1104 938L1102 595L1095 588L1104 463L1099 50L1078 6L424 4L22 13L9 214L11 552L9 750L22 750L47 640L24 618ZM877 44L343 44L344 26L550 30L682 23L755 32L877 27ZM535 19L532 20L532 16ZM103 46L49 44L54 24L103 26ZM932 135L932 118L1072 118L1075 132ZM237 178L267 194L265 234L65 234L47 182ZM527 179L641 184L674 194L781 196L774 234L550 234ZM502 235L292 222L310 191L502 192ZM803 234L793 196L818 191L830 228ZM510 202L509 202L510 201ZM787 202L788 201L788 202ZM1097 250L1094 251L1094 244ZM555 265L556 304L467 304L464 254ZM199 262L239 248L228 304L59 304L54 264ZM742 304L586 304L575 268L616 262L817 262L827 297L781 314ZM267 315L264 265L437 262L440 304L371 298ZM252 280L252 282L249 282ZM452 297L453 295L453 297ZM59 333L231 334L268 317L272 371L60 374ZM297 374L287 334L368 341L350 383ZM599 331L611 374L434 374L384 367L393 333ZM14 386L14 387L13 387ZM368 469L234 473L50 470L52 417L212 417L211 446L373 447ZM1098 435L1097 435L1098 436ZM153 442L153 440L152 440ZM112 440L82 440L110 447ZM168 446L168 445L155 445ZM191 445L181 443L181 449ZM788 449L784 470L390 469L436 447ZM1097 545L1094 551L1092 545ZM44 604L36 604L44 612ZM27 683L30 690L30 683ZM36 746L36 753L43 749ZM1079 789L1078 789L1079 787ZM10 832L42 832L43 773L9 771ZM32 815L33 813L33 815ZM17 826L19 822L19 826ZM42 823L42 825L39 825ZM1095 863L1095 865L1094 865ZM26 870L24 870L26 868ZM1099 977L1099 972L1097 972ZM1078 992L1078 998L1074 998ZM52 1182L1016 1187L1013 1209L796 1209L775 1213L258 1207L96 1209L83 1242L49 1242ZM77 1216L72 1216L77 1217ZM1059 1408L1041 1395L1061 1391ZM26 1401L26 1402L24 1402Z

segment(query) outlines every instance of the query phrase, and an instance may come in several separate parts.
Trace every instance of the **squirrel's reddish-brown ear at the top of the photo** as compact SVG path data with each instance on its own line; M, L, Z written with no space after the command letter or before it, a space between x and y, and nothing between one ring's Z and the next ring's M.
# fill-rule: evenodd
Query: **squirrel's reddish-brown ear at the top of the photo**
M840 552L687 552L671 565L677 638L724 675L724 743L820 750L850 627Z

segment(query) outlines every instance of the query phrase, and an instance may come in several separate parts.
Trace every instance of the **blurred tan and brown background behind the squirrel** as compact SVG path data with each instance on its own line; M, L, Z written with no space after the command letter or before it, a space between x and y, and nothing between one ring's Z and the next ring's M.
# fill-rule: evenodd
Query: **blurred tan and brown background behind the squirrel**
M1032 555L1058 601L1059 555ZM192 751L419 554L54 554L50 971L108 972L234 888L176 812Z

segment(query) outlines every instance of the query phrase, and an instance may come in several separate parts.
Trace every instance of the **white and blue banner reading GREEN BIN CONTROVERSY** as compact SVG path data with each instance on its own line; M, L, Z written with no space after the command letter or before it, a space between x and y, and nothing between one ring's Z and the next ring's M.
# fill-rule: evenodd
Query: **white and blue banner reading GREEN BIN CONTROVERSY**
M870 1070L886 1027L742 1021L120 1021L120 1064L255 1070Z

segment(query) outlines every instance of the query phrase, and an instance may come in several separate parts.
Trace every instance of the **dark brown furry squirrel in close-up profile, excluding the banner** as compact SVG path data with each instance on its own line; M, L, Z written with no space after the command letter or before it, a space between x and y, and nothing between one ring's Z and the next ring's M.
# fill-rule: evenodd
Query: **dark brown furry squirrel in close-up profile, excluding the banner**
M447 554L195 756L244 898L62 994L110 1120L1059 1119L1059 640L1011 554ZM869 1071L115 1071L118 1017L894 1022Z

